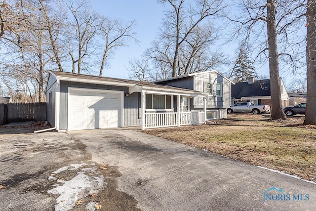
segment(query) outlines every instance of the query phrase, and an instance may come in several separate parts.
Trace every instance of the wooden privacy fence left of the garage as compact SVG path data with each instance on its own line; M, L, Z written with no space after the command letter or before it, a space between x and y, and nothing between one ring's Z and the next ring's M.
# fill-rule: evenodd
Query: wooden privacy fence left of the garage
M44 120L46 120L46 103L0 104L0 125Z

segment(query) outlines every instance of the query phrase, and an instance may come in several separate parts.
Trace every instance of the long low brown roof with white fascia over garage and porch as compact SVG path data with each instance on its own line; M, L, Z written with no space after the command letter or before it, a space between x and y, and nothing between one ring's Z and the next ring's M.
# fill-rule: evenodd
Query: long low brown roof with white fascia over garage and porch
M169 90L169 91L180 91L180 92L188 92L188 93L196 93L206 95L207 93L203 93L200 91L187 89L187 88L178 88L164 84L154 84L151 82L140 82L128 79L117 79L110 77L99 77L92 75L84 75L84 74L76 74L69 72L60 72L60 71L50 71L51 74L55 75L55 77L61 81L74 81L79 83L87 83L87 84L107 84L107 85L117 85L117 86L141 86L147 89L158 89L158 90Z

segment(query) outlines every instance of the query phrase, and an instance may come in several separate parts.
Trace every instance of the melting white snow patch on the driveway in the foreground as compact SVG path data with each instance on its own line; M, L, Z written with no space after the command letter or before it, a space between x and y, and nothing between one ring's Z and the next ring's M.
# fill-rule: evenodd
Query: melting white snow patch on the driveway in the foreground
M84 164L86 165L86 164ZM74 169L78 169L83 164L80 165L70 165ZM68 169L68 168L67 168ZM56 172L60 172L67 169L58 169ZM69 169L69 170L74 170ZM85 172L96 171L97 168L85 168L80 169L77 175L69 181L57 180L58 182L63 182L61 186L57 186L51 190L48 190L49 194L60 194L56 199L55 211L68 211L75 207L75 203L92 193L98 193L104 185L103 175L88 176ZM55 172L55 173L56 173ZM93 210L95 210L93 206Z

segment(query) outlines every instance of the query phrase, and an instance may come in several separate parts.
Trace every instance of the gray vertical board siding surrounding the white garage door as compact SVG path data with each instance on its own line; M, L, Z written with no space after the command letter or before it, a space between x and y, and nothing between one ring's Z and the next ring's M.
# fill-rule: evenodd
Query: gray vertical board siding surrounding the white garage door
M60 82L60 115L59 115L59 129L68 129L68 88L91 88L101 90L115 90L124 91L124 126L139 126L141 125L141 119L138 119L138 92L131 93L128 97L125 93L128 92L128 87L103 85L103 84L84 84L78 82Z

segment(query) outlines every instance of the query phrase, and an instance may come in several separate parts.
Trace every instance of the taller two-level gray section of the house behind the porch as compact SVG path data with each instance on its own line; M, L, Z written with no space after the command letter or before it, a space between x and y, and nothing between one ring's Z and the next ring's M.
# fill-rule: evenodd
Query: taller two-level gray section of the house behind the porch
M208 93L206 99L207 118L227 118L227 108L231 105L231 84L234 82L216 70L177 76L154 83L206 92ZM190 110L202 111L203 97L193 97L188 106ZM213 116L214 114L216 116Z

